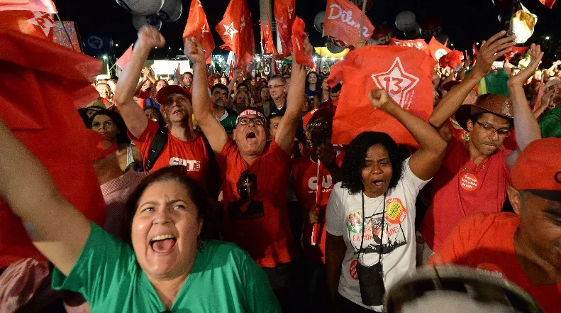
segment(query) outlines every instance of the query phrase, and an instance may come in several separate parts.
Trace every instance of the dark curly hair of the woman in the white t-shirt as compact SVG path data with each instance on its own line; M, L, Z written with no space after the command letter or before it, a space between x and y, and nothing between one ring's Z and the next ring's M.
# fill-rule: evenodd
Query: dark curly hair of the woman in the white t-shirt
M382 145L388 151L393 171L388 189L396 187L397 182L401 178L401 163L404 160L404 156L394 139L387 133L365 131L350 142L345 158L343 158L341 187L348 189L349 194L357 194L365 190L365 186L362 184L362 170L365 168L366 153L372 145Z

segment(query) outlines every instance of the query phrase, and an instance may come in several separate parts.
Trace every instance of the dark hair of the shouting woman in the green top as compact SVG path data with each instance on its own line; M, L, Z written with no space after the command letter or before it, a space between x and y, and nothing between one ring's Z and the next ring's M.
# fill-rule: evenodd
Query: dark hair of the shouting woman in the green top
M183 187L189 191L189 198L193 201L196 211L199 214L199 219L204 219L203 229L201 230L201 238L206 238L208 229L207 216L209 215L209 195L204 188L199 185L199 182L187 176L187 170L183 165L168 166L167 168L160 168L150 175L145 177L140 184L136 187L135 191L130 194L126 202L126 221L128 226L128 233L126 240L131 243L131 232L133 226L133 218L138 207L138 201L144 194L146 189L157 182L179 182Z

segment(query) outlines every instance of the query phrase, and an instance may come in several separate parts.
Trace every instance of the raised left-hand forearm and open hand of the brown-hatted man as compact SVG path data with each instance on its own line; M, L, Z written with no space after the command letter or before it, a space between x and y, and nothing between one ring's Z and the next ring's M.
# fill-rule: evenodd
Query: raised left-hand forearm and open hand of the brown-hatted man
M438 106L435 107L433 114L428 119L435 128L439 128L460 108L463 101L470 94L470 90L491 70L493 62L510 51L510 47L515 45L514 36L501 38L505 34L504 31L496 33L489 38L487 42L483 42L477 62L475 62L472 72L470 72L460 84L454 87L450 92L445 94Z

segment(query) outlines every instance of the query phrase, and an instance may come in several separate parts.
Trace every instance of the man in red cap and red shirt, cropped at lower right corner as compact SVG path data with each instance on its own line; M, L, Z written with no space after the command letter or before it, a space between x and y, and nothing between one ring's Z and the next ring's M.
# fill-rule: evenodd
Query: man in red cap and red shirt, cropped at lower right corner
M561 138L533 141L507 187L516 214L464 219L431 257L501 275L529 292L545 313L561 312ZM556 160L552 162L552 160Z

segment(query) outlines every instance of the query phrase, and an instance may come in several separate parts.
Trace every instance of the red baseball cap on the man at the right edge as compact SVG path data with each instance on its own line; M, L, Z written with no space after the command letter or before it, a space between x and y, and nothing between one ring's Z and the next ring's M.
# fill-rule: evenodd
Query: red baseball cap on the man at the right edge
M561 138L533 141L511 169L517 190L527 190L545 199L561 201Z

